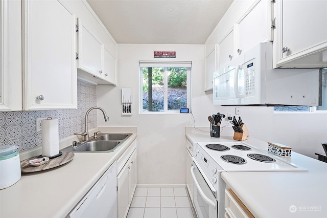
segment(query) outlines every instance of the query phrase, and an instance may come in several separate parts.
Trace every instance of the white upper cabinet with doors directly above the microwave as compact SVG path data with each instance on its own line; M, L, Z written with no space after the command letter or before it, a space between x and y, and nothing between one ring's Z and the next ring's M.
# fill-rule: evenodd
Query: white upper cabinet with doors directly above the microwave
M272 3L267 0L235 1L207 39L218 43L217 68L260 42L272 41Z

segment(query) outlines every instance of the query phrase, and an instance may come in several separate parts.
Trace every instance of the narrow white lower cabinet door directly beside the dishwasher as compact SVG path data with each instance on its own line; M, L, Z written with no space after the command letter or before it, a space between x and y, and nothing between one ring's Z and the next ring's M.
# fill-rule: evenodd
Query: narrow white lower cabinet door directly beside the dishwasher
M129 164L126 164L117 176L117 217L124 218L129 205Z

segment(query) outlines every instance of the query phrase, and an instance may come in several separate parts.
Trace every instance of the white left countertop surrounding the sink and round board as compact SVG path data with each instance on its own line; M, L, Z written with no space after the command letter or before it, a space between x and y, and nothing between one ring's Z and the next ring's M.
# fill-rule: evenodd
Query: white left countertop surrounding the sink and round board
M62 166L22 173L16 184L0 190L0 217L65 217L137 136L136 127L98 130L133 135L114 152L74 153L74 159Z

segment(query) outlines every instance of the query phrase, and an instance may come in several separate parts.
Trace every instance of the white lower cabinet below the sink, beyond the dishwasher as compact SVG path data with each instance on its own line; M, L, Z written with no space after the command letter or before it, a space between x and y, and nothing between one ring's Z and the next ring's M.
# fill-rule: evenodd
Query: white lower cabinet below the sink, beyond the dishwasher
M132 153L131 153L132 151ZM127 216L128 209L132 202L135 192L137 177L136 177L136 142L125 151L125 154L120 158L124 160L129 157L124 163L125 165L117 176L117 217L124 218ZM120 161L120 159L118 161ZM121 162L121 161L120 161ZM122 162L121 162L122 163ZM121 164L120 163L120 164ZM118 171L120 166L118 166Z

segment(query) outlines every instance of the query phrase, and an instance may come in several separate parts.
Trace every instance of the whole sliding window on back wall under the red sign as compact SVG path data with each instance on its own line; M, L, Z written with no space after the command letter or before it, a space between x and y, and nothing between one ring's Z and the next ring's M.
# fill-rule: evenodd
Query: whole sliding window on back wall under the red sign
M140 113L190 108L192 62L139 62Z

